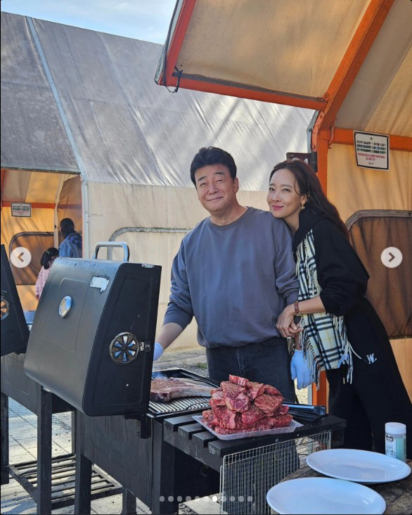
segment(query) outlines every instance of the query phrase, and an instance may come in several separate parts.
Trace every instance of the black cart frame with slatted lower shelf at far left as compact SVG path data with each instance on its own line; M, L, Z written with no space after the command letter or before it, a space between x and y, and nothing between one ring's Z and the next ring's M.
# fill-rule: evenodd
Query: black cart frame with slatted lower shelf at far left
M65 483L75 485L76 412L58 395L30 379L23 369L24 360L24 354L14 352L1 357L1 484L7 484L11 474L36 502L37 513L51 513L52 509L75 503L74 495L63 492L63 488L60 492L56 490L60 488L62 473ZM37 460L9 464L8 398L37 415ZM52 458L52 415L64 412L72 412L72 452ZM92 475L100 481L92 488L93 500L122 492L122 486L105 473L94 469Z

